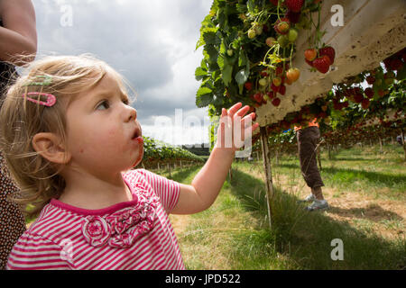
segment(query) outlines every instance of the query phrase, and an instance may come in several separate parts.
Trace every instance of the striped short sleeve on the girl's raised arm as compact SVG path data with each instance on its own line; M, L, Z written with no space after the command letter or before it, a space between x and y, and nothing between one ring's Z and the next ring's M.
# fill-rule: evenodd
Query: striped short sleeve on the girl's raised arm
M180 184L145 169L141 170L148 184L151 184L153 191L160 198L165 211L170 212L178 203Z

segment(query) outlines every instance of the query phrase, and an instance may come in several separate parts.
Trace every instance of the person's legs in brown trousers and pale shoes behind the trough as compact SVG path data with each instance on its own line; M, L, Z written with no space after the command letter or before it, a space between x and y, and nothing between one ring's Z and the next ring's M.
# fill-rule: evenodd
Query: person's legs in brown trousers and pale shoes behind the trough
M311 189L311 193L300 202L312 202L306 207L308 211L327 210L328 202L324 199L321 190L324 183L321 180L316 161L318 139L320 138L317 118L309 121L309 126L306 128L295 127L294 129L298 139L301 174Z

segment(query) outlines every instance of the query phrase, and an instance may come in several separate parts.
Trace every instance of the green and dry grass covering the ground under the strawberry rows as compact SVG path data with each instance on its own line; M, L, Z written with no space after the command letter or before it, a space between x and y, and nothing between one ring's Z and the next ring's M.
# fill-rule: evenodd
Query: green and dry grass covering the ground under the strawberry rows
M233 164L232 179L227 179L210 209L190 216L171 215L187 268L405 269L402 151L384 150L387 153L353 148L340 151L331 161L323 153L322 177L327 187L334 187L326 190L334 205L330 211L313 213L297 203L309 193L299 160L282 157L280 166L272 169L272 229L261 163ZM198 170L172 173L172 178L190 183ZM351 202L353 206L347 207L345 197L358 197L362 204ZM392 211L383 204L400 208ZM334 238L343 240L343 261L331 259Z

